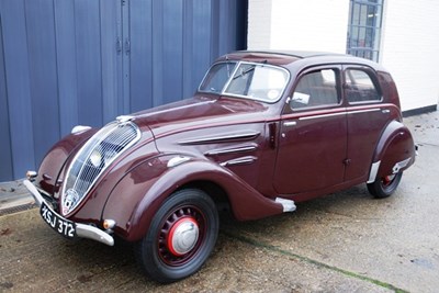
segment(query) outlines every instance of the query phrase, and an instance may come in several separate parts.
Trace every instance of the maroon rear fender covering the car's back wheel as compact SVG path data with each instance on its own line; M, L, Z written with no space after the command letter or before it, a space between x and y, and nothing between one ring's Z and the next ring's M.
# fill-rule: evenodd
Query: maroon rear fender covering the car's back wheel
M401 122L392 121L381 135L373 156L373 162L380 162L374 178L404 171L415 162L415 157L410 131Z

